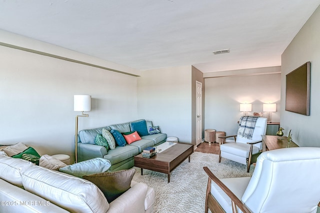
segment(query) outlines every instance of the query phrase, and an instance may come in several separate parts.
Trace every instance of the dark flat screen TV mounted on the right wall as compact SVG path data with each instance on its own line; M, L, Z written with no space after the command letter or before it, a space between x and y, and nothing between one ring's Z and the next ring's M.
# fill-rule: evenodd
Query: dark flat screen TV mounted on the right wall
M310 61L286 75L285 110L310 115Z

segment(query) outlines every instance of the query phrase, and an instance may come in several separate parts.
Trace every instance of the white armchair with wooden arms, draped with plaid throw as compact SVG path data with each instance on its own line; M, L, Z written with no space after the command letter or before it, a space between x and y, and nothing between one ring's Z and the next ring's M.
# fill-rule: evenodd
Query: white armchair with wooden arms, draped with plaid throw
M219 137L222 139L220 145L219 163L221 158L226 158L240 164L247 165L247 172L249 172L250 165L256 161L257 156L262 152L262 137L266 132L266 118L255 116L242 116L239 121L240 128L244 130L248 127L248 123L255 119L253 126L253 133L251 138L243 137L241 131L238 130L237 135ZM251 129L253 128L251 127ZM234 141L227 141L226 138L233 137ZM254 160L254 161L252 161Z

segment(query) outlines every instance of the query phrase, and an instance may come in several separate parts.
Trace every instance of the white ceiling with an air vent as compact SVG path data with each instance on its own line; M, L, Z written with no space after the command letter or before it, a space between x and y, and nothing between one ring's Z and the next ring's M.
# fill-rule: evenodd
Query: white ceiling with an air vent
M306 3L307 2L307 3ZM137 70L281 65L320 0L2 0L0 29ZM229 53L212 51L230 49Z

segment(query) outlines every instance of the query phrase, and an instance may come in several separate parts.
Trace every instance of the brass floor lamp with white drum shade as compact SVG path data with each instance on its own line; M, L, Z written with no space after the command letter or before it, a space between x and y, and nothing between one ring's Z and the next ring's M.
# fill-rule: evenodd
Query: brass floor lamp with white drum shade
M88 114L83 114L83 112L91 111L91 96L90 95L74 95L74 111L82 112L82 115L75 116L75 163L78 162L78 117L88 117Z

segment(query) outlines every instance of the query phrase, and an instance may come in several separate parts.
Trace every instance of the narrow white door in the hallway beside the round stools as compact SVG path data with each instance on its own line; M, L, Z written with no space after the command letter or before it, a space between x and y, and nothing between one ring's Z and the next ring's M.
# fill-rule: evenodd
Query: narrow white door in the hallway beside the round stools
M196 146L199 145L202 142L202 83L196 81L196 106L195 106L195 111L196 111L196 119L195 119L195 137L196 141L195 144Z

